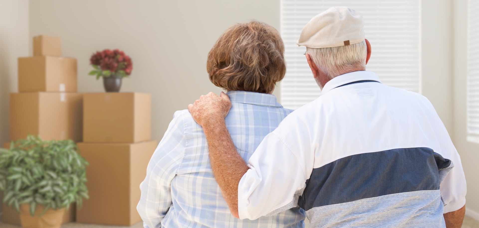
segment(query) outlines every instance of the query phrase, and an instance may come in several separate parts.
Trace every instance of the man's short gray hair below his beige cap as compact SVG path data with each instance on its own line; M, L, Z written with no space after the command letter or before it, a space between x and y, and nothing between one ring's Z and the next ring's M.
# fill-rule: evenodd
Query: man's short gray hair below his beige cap
M366 68L366 42L339 47L306 48L306 53L330 79Z

